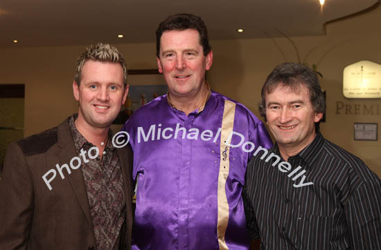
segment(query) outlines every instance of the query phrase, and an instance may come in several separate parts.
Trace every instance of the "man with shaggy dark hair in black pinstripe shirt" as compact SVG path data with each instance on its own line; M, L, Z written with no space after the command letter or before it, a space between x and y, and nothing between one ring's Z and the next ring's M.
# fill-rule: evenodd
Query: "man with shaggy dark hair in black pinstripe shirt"
M259 109L276 144L258 148L247 167L251 240L261 249L381 249L381 181L319 133L326 104L316 73L277 66Z

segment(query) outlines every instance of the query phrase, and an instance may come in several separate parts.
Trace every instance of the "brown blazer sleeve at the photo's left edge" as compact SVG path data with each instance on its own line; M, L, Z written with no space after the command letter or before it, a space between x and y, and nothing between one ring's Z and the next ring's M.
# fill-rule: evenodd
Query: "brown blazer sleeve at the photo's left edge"
M33 184L24 153L10 144L0 180L0 249L27 249Z

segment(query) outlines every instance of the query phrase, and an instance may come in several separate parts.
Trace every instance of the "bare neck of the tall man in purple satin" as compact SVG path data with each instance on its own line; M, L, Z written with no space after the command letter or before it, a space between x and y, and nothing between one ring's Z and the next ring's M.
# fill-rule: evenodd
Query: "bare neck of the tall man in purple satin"
M206 101L208 95L208 86L206 82L202 85L202 88L192 96L178 96L170 95L170 102L178 110L183 111L186 115L193 112L197 108L200 108Z

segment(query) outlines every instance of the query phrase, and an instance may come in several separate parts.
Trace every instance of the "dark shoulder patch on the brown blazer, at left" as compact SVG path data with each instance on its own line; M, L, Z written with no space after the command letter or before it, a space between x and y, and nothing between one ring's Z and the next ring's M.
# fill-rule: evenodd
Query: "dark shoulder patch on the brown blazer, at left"
M45 153L55 144L57 144L57 127L25 137L14 142L12 146L19 146L24 155L30 156Z

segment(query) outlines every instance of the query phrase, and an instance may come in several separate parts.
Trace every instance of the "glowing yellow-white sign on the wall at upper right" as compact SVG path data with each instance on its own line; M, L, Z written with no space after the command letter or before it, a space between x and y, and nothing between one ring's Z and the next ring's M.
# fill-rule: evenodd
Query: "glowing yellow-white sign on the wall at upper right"
M346 66L343 95L346 98L381 98L381 65L364 60Z

